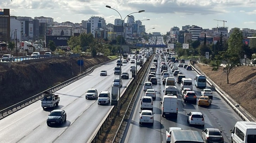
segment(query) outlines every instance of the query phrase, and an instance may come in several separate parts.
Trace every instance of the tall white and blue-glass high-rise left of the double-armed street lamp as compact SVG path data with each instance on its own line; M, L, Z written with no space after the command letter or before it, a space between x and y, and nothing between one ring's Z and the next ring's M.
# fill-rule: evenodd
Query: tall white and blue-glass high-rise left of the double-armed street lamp
M102 17L92 16L87 22L87 34L95 36L95 29L102 28L106 30L106 20Z

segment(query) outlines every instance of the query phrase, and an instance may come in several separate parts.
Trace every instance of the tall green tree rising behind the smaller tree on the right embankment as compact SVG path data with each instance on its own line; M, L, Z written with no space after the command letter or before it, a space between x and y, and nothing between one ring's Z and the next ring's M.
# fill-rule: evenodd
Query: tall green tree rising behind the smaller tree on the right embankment
M230 34L230 37L228 39L228 50L230 50L231 53L239 55L242 51L242 46L243 33L238 28L234 28L233 32ZM242 58L240 55L239 57Z

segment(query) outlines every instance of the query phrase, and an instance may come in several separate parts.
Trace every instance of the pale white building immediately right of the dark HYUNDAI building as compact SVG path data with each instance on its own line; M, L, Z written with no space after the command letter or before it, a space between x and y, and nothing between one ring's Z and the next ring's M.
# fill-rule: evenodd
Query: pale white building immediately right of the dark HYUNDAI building
M15 30L17 28L17 30ZM16 33L15 31L17 31L17 41L21 41L22 37L21 37L21 21L17 20L15 17L11 17L10 18L10 37L11 40L15 40L16 39Z

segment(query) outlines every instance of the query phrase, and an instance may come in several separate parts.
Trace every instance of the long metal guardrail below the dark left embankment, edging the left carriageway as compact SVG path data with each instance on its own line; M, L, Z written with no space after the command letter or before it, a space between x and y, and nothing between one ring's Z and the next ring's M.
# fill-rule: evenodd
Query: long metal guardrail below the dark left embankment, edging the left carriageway
M65 81L65 82L62 82L62 83L60 83L60 84L58 84L58 85L56 85L56 86L54 86L54 87L52 87L52 88L49 88L49 89L47 89L47 90L45 90L45 91L51 91L51 92L53 92L53 91L55 91L55 90L59 90L60 88L63 88L63 87L65 87L65 86L67 86L68 84L70 84L70 83L72 83L72 82L74 82L74 81L77 81L77 80L81 79L82 77L84 77L84 76L86 76L86 75L92 73L92 71L93 71L94 69L96 69L96 68L98 68L98 67L100 67L100 66L102 66L102 65L104 65L104 64L106 64L106 63L110 63L110 62L112 62L112 61L115 61L115 60L117 60L117 59L119 59L119 57L116 58L116 59L109 60L109 61L107 61L107 62L98 64L98 65L92 67L90 70L86 71L85 73L80 74L80 75L78 75L78 76L75 76L75 77L73 77L72 79L69 79L69 80L67 80L67 81ZM45 92L45 91L43 91L43 92ZM5 109L1 110L1 111L0 111L0 114L1 114L0 120L1 120L2 118L7 117L8 115L11 115L12 113L14 113L14 112L16 112L16 111L18 111L18 110L20 110L20 109L22 109L22 108L24 108L24 107L30 105L30 104L32 104L32 103L34 103L34 102L40 100L40 99L42 98L42 96L43 96L43 92L41 92L41 93L39 93L39 94L37 94L37 95L34 95L34 96L30 97L30 98L27 98L27 99L25 99L25 100L23 100L23 101L21 101L21 102L19 102L19 103L17 103L17 104L14 104L14 105L12 105L12 106L10 106L10 107L8 107L8 108L5 108Z

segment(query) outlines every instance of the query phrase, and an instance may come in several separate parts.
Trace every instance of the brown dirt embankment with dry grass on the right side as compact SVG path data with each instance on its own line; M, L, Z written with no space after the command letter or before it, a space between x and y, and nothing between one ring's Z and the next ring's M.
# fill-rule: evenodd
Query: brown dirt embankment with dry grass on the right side
M196 64L207 76L210 77L218 86L239 103L252 116L256 117L256 67L240 66L234 68L227 75L223 69L212 71L212 67Z

